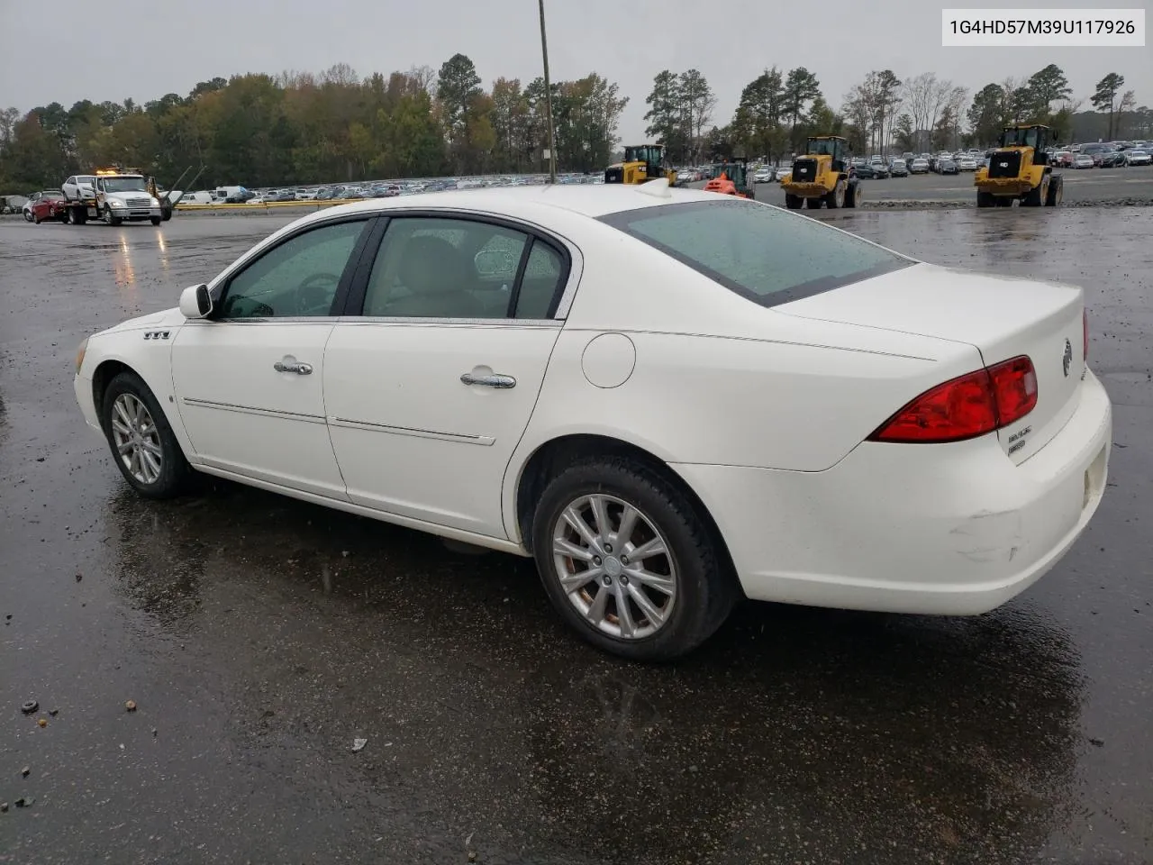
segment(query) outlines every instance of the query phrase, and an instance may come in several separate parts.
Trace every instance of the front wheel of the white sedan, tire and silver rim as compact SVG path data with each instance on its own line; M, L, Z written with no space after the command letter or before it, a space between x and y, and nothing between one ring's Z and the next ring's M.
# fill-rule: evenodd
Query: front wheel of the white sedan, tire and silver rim
M113 459L137 492L171 498L188 488L193 469L144 379L121 373L108 384L100 406Z

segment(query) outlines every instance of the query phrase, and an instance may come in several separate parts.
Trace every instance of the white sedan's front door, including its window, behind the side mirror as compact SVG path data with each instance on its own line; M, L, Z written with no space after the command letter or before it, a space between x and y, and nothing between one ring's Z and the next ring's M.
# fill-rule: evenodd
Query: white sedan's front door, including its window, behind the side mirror
M213 468L346 498L324 414L324 352L370 219L285 238L232 274L217 311L178 331L173 389Z

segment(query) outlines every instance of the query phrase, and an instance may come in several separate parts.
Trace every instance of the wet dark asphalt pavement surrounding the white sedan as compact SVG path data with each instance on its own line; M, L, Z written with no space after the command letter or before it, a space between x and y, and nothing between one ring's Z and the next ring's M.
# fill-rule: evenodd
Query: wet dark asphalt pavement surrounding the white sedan
M287 219L0 223L0 863L1153 860L1153 211L822 218L1085 285L1110 489L994 614L748 603L670 667L570 637L528 562L128 490L77 343Z

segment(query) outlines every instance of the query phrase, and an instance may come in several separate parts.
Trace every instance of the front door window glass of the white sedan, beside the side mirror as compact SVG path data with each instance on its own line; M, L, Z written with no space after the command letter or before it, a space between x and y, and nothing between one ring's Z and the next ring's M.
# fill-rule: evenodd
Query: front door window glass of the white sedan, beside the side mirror
M297 234L236 273L225 289L221 318L333 315L337 286L367 220Z

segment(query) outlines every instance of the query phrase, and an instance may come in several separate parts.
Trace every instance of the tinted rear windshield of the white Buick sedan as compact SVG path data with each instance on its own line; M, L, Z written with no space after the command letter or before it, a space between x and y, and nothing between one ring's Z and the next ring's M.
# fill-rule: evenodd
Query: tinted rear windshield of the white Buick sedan
M815 219L728 196L626 210L601 221L766 307L915 263Z

